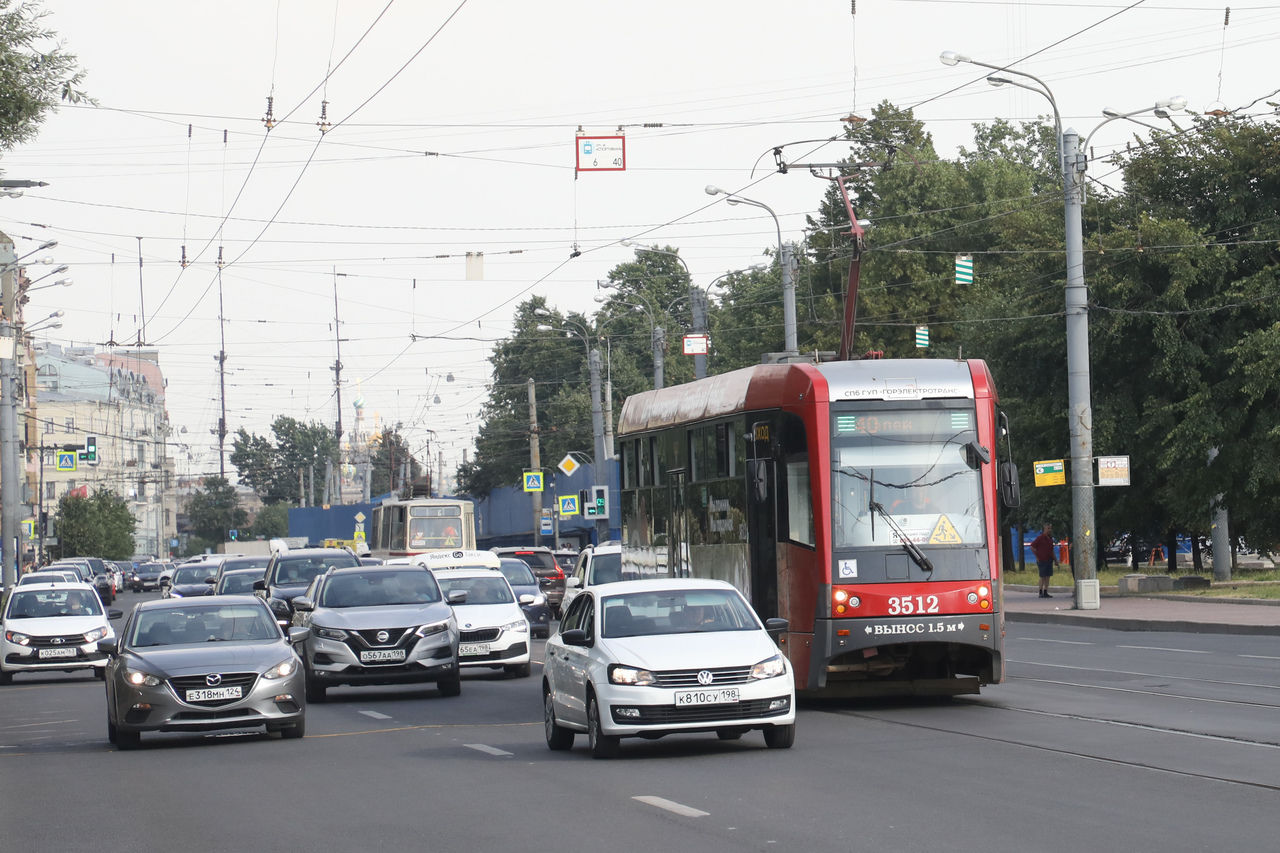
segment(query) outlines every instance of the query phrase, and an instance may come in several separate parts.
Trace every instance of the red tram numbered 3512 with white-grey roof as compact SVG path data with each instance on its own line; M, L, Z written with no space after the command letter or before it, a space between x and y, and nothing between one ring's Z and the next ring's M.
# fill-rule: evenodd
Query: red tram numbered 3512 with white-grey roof
M617 432L625 574L735 584L787 620L799 689L1002 680L1018 475L983 361L759 365L635 394Z

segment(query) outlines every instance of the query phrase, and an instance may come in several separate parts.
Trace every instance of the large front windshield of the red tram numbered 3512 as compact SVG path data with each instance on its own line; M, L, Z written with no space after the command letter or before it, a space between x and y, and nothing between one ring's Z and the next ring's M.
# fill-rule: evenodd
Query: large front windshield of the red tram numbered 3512
M972 407L832 410L836 547L984 543Z

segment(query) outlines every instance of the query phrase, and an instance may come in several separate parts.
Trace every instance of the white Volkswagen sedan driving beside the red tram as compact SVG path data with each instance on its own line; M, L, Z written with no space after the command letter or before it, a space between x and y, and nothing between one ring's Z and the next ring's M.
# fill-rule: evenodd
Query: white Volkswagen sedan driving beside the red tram
M588 588L547 642L547 745L568 749L585 731L596 758L620 738L751 729L786 749L795 742L795 680L742 594L718 580L631 580Z

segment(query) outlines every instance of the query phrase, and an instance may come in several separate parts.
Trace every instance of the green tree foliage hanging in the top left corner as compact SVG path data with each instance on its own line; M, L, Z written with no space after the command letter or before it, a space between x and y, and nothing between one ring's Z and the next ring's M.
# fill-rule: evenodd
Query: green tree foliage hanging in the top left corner
M46 29L49 14L33 3L0 0L0 149L36 138L60 101L93 102L79 86L74 54Z

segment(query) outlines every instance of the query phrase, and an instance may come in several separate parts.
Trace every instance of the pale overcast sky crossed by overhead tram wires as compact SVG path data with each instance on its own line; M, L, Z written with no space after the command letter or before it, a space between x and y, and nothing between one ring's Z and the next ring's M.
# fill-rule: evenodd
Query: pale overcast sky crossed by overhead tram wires
M56 240L74 280L33 292L26 320L65 310L47 339L76 345L136 343L145 325L193 474L218 470L219 278L232 433L334 421L337 287L346 429L361 398L452 471L521 301L590 311L627 238L678 247L704 286L776 246L767 214L705 184L768 204L800 240L827 183L776 173L773 146L838 159L820 140L886 99L915 106L945 156L974 122L1048 113L943 50L1021 60L1082 134L1103 108L1176 93L1197 111L1261 97L1257 114L1280 88L1280 3L1261 0L1233 4L1226 27L1203 0L44 5L97 106L61 108L0 159L8 179L49 182L0 200L0 228L19 255ZM620 127L626 170L575 174L579 128ZM1134 132L1112 122L1094 150Z

